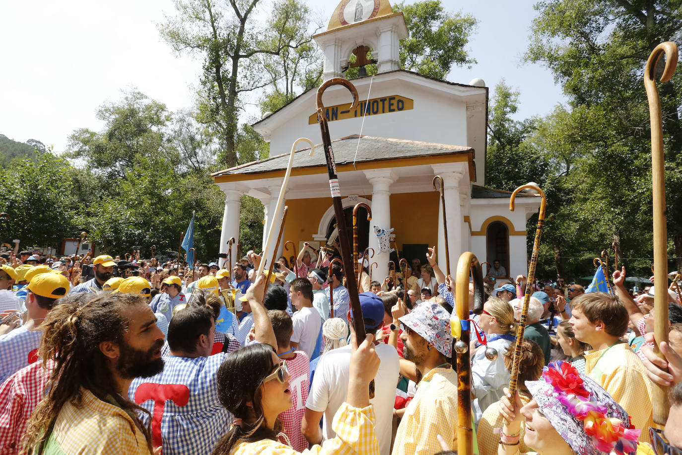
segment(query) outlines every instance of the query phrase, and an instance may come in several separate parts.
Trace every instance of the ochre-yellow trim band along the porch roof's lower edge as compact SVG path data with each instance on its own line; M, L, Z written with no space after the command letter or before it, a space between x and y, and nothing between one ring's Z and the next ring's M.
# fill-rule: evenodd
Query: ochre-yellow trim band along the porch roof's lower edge
M353 166L353 163L349 164L337 164L336 171L346 172L346 171L367 171L369 169L383 169L389 167L406 167L406 166L422 166L424 164L439 164L439 163L458 163L458 162L469 162L469 178L474 181L476 178L475 168L473 167L473 151L471 153L449 153L447 155L438 156L425 156L419 158L396 158L394 160L377 160L370 162L357 163ZM271 179L276 177L284 177L284 171L286 169L280 169L278 171L266 171L262 173L250 173L250 174L228 174L228 175L218 175L213 177L213 181L216 184L222 184L231 181L247 181L247 180L261 180L261 179ZM327 174L327 165L324 166L312 166L306 168L295 168L291 170L291 177L297 175L315 175L315 174Z

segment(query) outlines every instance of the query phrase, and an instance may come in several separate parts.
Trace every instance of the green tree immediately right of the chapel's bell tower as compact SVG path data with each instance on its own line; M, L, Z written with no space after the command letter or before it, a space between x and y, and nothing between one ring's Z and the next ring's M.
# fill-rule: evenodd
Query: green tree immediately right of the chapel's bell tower
M410 37L400 40L400 65L436 79L445 79L452 65L476 63L466 51L476 19L471 14L446 12L440 0L393 5L402 11Z

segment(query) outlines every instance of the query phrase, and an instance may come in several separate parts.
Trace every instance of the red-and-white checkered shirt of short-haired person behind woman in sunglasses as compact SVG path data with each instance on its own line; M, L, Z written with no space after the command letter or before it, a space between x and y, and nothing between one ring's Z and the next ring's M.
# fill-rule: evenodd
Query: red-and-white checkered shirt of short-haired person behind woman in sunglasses
M296 357L286 359L292 406L280 414L280 421L293 450L303 452L308 448L308 441L301 432L301 421L303 414L306 413L306 400L308 400L310 388L310 360L303 351L294 351L294 353Z

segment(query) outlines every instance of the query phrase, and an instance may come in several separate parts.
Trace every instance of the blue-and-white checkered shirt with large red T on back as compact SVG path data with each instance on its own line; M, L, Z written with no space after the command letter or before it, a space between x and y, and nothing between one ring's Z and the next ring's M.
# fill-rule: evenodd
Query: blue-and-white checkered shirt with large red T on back
M151 434L164 455L211 453L232 421L218 400L216 373L226 353L164 357L164 370L132 381L128 396L152 413ZM149 417L140 415L145 425Z

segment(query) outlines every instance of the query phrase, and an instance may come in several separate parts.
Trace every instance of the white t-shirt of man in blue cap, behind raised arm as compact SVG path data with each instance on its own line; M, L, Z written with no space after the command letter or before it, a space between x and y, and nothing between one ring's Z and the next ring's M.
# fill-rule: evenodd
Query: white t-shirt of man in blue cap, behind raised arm
M331 428L331 422L348 393L351 349L351 346L340 347L320 357L312 387L310 387L306 407L312 411L325 413L322 426L325 439L336 437L336 432ZM376 354L379 355L381 364L374 377L374 398L370 402L374 405L376 414L376 439L379 441L379 453L389 455L400 361L396 348L388 344L377 344Z

